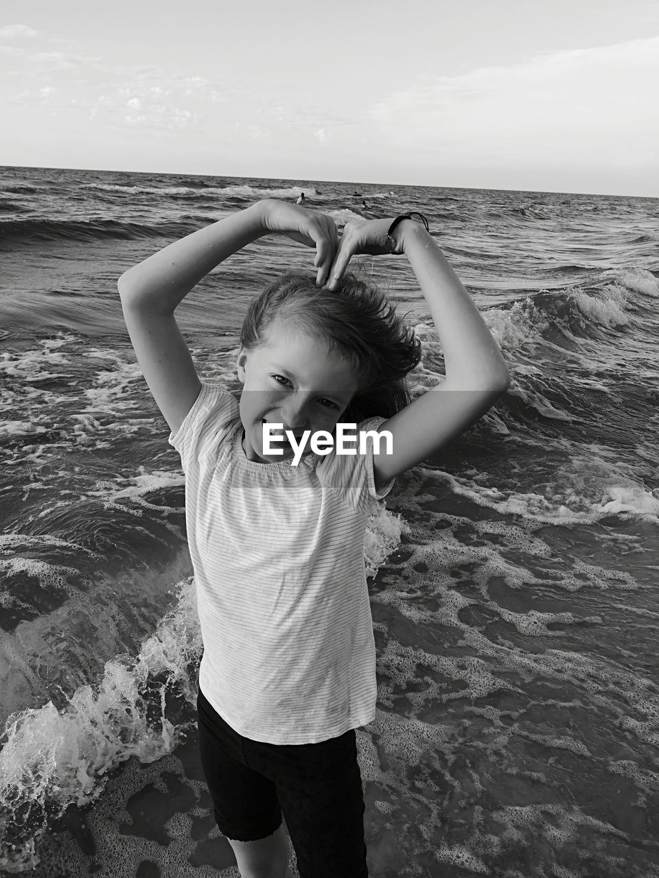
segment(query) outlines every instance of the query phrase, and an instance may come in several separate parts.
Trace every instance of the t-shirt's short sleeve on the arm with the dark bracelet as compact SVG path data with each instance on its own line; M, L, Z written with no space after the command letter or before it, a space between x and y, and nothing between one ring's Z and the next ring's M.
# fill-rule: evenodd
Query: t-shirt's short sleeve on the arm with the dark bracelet
M332 487L353 508L359 509L365 514L370 513L376 500L384 500L395 485L395 478L389 479L380 489L375 489L375 474L373 472L373 448L374 443L380 441L380 449L386 449L386 440L380 440L369 432L378 433L380 425L386 419L382 417L367 418L357 425L358 442L346 443L348 447L356 448L356 455L337 454L332 449L328 455L321 457L321 462L316 467L318 479ZM360 434L366 434L366 449L364 454L359 453ZM349 434L346 434L346 438Z

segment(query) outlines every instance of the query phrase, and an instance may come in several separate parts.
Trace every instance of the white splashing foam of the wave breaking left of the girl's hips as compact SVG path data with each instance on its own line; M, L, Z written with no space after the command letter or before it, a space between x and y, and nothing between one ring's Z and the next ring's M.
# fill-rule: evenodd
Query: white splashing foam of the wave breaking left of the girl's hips
M176 745L182 729L164 716L165 690L179 687L192 703L186 668L201 649L192 579L177 588L176 608L144 641L136 659L107 662L98 687L78 688L62 710L47 702L7 721L0 752L0 802L11 802L14 811L27 810L36 827L0 867L23 871L36 864L33 843L46 831L47 803L62 814L71 802L91 802L102 792L108 772L131 755L150 762ZM149 685L160 694L155 723L148 719L148 702L154 704L153 695L145 700ZM19 831L10 816L4 822L12 832Z

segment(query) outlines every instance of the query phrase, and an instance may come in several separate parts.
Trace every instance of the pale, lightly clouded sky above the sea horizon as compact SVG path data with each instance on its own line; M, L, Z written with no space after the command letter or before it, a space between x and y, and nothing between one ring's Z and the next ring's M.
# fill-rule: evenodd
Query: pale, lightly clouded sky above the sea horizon
M0 164L659 197L656 0L3 0Z

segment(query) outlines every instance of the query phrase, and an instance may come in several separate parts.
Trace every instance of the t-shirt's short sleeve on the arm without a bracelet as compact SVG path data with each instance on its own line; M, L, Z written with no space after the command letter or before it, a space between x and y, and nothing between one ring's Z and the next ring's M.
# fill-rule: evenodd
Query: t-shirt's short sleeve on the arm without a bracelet
M192 408L168 439L181 456L183 471L193 461L216 452L239 417L238 403L227 387L202 381Z

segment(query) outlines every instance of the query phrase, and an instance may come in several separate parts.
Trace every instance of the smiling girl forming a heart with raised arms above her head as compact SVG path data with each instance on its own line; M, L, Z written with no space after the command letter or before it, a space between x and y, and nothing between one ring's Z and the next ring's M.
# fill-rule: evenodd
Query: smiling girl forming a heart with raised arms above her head
M236 403L199 381L174 311L271 233L315 247L315 283L289 272L250 304ZM346 274L352 255L385 253L408 257L444 349L445 379L413 402L404 378L419 343L379 291ZM217 824L242 878L292 878L282 811L301 878L365 878L355 729L376 701L366 522L397 475L496 402L510 384L501 351L411 215L350 222L339 240L329 216L265 199L134 266L119 293L185 471L204 643L199 750ZM328 448L339 422L366 442ZM318 442L295 464L305 434Z

